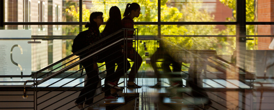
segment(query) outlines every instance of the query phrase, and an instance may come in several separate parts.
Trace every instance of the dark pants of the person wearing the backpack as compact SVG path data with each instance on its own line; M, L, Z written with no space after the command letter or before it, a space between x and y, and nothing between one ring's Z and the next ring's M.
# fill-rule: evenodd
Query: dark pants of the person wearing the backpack
M75 101L78 104L79 103L83 104L82 103L83 101L85 101L86 99L89 99L89 98L94 96L96 87L97 87L98 82L99 82L98 71L94 69L94 64L97 65L97 63L94 63L94 61L92 59L86 60L86 61L81 62L81 63L85 67L85 71L87 73L87 79L88 80L86 82L86 85L84 85L84 89L82 89L82 91L79 94L79 99L77 99ZM85 95L83 95L83 94L85 94ZM81 95L83 95L83 96L81 96ZM85 104L91 104L91 103L93 103L93 98L91 98L91 99L89 99L85 102Z

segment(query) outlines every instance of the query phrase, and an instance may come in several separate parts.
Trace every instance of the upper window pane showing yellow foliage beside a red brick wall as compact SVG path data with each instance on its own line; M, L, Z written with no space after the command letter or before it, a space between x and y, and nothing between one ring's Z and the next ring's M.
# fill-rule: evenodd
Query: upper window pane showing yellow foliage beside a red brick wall
M223 1L223 0L220 0ZM219 0L161 0L161 21L224 22L235 21L234 2Z

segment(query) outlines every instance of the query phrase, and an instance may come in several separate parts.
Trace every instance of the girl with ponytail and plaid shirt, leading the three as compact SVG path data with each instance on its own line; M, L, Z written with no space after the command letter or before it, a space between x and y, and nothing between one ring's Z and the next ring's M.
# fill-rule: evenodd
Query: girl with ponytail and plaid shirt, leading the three
M124 18L122 19L122 25L123 28L134 28L134 21L133 19L135 17L139 17L141 12L140 5L138 3L128 3L126 6L126 9L124 11ZM134 31L127 31L127 34L133 34ZM133 36L126 36L127 38L132 38ZM135 49L132 49L133 44L132 42L128 42L126 45L126 48L131 48L131 49L124 49L127 50L128 58L131 61L134 61L131 70L129 72L129 80L127 81L127 87L128 88L141 88L141 86L136 85L134 83L135 81L135 76L138 73L138 70L143 62L142 57L136 52Z

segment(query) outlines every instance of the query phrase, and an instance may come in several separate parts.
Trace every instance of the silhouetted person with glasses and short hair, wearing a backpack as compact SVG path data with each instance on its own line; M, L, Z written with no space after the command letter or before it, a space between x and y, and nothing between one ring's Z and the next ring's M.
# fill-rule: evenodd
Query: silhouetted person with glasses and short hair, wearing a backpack
M91 13L90 17L89 17L89 22L90 23L87 23L85 25L85 27L89 28L89 29L85 30L83 32L80 32L78 34L78 36L84 36L83 38L90 38L90 39L87 39L86 42L83 43L83 45L85 45L85 47L87 47L90 44L93 44L94 42L99 40L99 35L100 35L99 27L104 22L103 13L102 12ZM89 54L91 54L91 52ZM87 55L82 55L80 57L80 59L82 59L86 56ZM91 98L91 97L94 96L95 89L99 82L98 71L95 70L98 67L96 60L97 60L96 57L92 57L92 58L87 59L84 62L81 62L81 64L84 66L85 71L87 73L88 80L86 82L86 85L84 85L84 89L82 89L82 91L80 92L78 99L76 99L76 101L75 101L76 105L79 104L79 105L77 105L77 107L79 109L83 109L83 103L86 99L88 99L88 100L85 102L85 106L93 103L93 98ZM83 95L83 94L85 94L85 95ZM81 95L83 95L83 96L81 96ZM91 98L91 99L89 99L89 98Z

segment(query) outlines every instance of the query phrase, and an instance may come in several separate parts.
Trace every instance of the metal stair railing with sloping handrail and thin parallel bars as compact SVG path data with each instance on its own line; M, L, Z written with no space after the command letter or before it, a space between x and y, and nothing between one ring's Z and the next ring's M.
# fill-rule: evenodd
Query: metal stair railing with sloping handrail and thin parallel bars
M118 34L119 32L122 32L122 31L123 31L123 30L119 30L119 31L117 31L116 33L111 34L111 35L109 35L109 36L111 37L111 36L113 36L113 35L115 35L115 34ZM104 41L105 39L108 39L108 38L109 38L109 37L106 37L106 38L100 40L100 42L101 42L101 41ZM126 39L126 40L137 40L137 41L138 41L138 40L160 40L159 38L138 38L138 37L136 37L136 38L125 38L125 39ZM74 85L73 87L70 87L69 89L66 89L66 90L64 90L63 92L58 93L58 94L54 95L53 97L48 98L48 99L46 99L46 100L44 100L44 101L38 102L38 99L42 98L43 96L47 96L48 94L50 94L50 93L53 92L54 90L57 90L57 89L63 87L64 85L67 85L67 84L73 82L74 80L81 78L82 76L85 76L87 73L86 73L86 74L83 74L83 75L81 75L81 76L75 78L74 80L71 80L71 81L69 81L69 82L67 82L67 83L65 83L65 84L63 84L63 85L61 85L61 86L59 86L59 87L56 87L55 89L52 89L52 90L50 90L49 92L47 92L47 93L45 93L45 94L42 94L42 95L41 95L41 94L38 94L38 92L42 91L42 90L45 89L45 88L50 87L51 85L56 84L56 82L58 82L58 81L60 81L60 80L63 80L63 79L65 79L65 78L68 78L69 76L71 76L71 75L73 75L73 74L75 74L75 73L77 73L77 72L83 70L84 68L82 68L82 69L80 69L80 70L78 70L78 71L75 71L74 73L69 74L69 75L66 76L66 77L63 77L62 79L60 79L60 80L58 80L58 81L56 81L56 82L53 82L53 83L51 82L51 84L47 85L47 86L44 87L44 88L39 88L39 89L38 89L38 85L43 84L44 82L46 82L46 81L48 81L48 80L54 78L55 76L58 76L58 75L64 73L65 71L68 71L70 68L79 65L81 62L83 62L83 61L85 61L85 60L87 60L87 59L89 59L89 58L91 58L91 57L97 55L98 53L103 52L105 49L110 48L110 47L112 47L112 46L114 46L115 44L118 44L118 43L120 43L120 42L124 42L125 39L119 39L119 40L113 42L112 44L109 44L109 45L107 45L107 46L105 46L105 47L99 49L98 51L95 51L94 53L89 54L89 55L87 55L87 56L84 57L84 58L81 58L80 60L78 60L78 61L76 61L76 62L70 64L69 66L66 66L66 67L62 68L61 70L59 70L59 71L57 71L57 72L55 72L55 73L53 73L53 74L51 74L51 75L49 75L49 76L47 76L47 77L41 79L41 80L38 80L38 78L41 78L43 75L37 77L37 74L39 74L39 73L41 73L41 72L47 70L47 69L50 68L50 67L55 66L55 65L58 64L58 63L61 63L61 62L65 61L65 60L69 59L70 57L72 57L72 56L74 56L74 55L76 55L76 54L78 54L78 53L83 52L84 50L86 50L86 49L88 49L88 48L90 48L90 47L92 47L92 46L95 46L95 45L99 44L100 42L94 43L94 44L92 44L92 45L90 45L90 46L88 46L88 47L86 47L86 48L80 50L80 51L77 52L77 53L71 54L71 55L69 55L69 56L63 58L62 60L60 60L60 61L58 61L58 62L55 62L55 63L53 63L53 64L51 64L51 65L49 65L49 66L47 66L47 67L45 67L45 68L43 68L43 69L37 71L37 72L35 72L35 73L32 74L32 75L29 75L29 76L20 76L20 77L30 77L30 76L34 76L34 80L33 80L33 81L26 81L26 82L33 82L32 85L0 85L0 88L30 88L30 87L35 87L35 89L33 89L33 92L36 92L36 95L35 95L34 93L33 93L33 94L28 94L28 95L33 95L34 100L31 101L31 102L34 102L34 103L35 103L34 106L36 106L36 107L34 107L34 108L38 109L37 106L42 105L43 103L45 103L45 102L47 102L47 101L51 101L51 99L54 99L54 98L56 98L58 95L61 95L62 93L66 92L66 91L69 91L70 89L75 88L75 87L77 87L78 85L81 85L81 84L84 83L85 81L83 81L83 82L81 82L81 83L79 83L79 84L77 84L77 85ZM138 47L138 46L137 46L137 47ZM80 57L80 56L79 56L79 57ZM77 57L77 58L78 58L78 57ZM75 58L75 59L73 59L73 60L76 60L77 58ZM226 62L225 60L221 59L220 57L216 57L216 58L219 59L219 60L221 60L221 61L223 61L223 62ZM71 62L71 61L70 61L70 62ZM223 73L226 73L226 72L227 72L226 70L224 70L224 69L222 69L222 68L216 66L216 65L213 64L212 62L209 62L209 61L205 61L205 62L207 62L210 66L217 67L217 70L219 70L219 71L221 71L221 72L223 72ZM69 63L69 62L67 62L67 63ZM67 63L65 63L65 64L67 64ZM227 62L226 62L226 63L227 63ZM64 66L65 64L63 64L62 66ZM59 66L59 67L62 67L62 66ZM104 65L102 65L102 66L104 66ZM57 68L59 68L59 67L57 67ZM101 66L100 66L100 67L101 67ZM185 66L185 67L186 67L186 66ZM99 67L98 67L98 68L99 68ZM49 72L47 72L47 73L50 73L50 72L52 72L52 71L54 71L54 70L56 70L56 69L53 69L53 70L51 70L51 71L49 71ZM242 71L243 71L243 70L242 70ZM105 72L105 71L102 71L102 72L99 73L99 74L103 74L104 72ZM210 72L210 71L207 71L207 72L213 74L213 73ZM244 71L244 72L249 73L248 71ZM47 73L45 73L44 75L46 75ZM13 76L2 76L2 77L13 77ZM19 76L14 76L14 77L19 77ZM104 77L104 78L105 78L105 77ZM104 79L104 78L103 78L103 79ZM221 78L221 77L220 77L220 78ZM102 79L101 79L101 80L102 80ZM100 80L100 81L101 81L101 80ZM126 80L126 76L124 77L124 80ZM212 79L211 79L211 80L212 80ZM223 80L226 80L226 79L223 79ZM138 81L138 80L137 80L137 81ZM212 81L214 81L214 80L212 80ZM227 81L227 80L226 80L226 81ZM245 84L247 84L247 85L249 85L250 87L252 87L252 84L249 84L249 83L246 82L244 79L240 79L240 81L242 81L242 82L244 82ZM215 82L216 82L216 81L215 81ZM229 81L228 81L228 82L229 82ZM124 83L124 85L125 85L125 81L122 81L122 82L119 83L119 84L122 84L122 83ZM204 83L205 83L205 82L204 82ZM218 83L218 82L216 82L216 83ZM231 82L229 82L229 83L231 83ZM205 84L206 84L206 83L205 83ZM233 83L231 83L231 84L234 85ZM209 84L206 84L206 85L209 85ZM220 85L221 85L221 84L220 84ZM102 87L102 86L104 86L104 85L101 85L100 87ZM184 85L184 86L185 86L185 85ZM209 86L210 86L210 85L209 85ZM237 85L236 85L236 86L237 86ZM98 88L100 88L100 87L97 87L96 89L98 89ZM212 87L212 86L211 86L211 87ZM224 86L224 87L225 87L225 86ZM238 86L238 87L239 87L239 86ZM240 88L240 87L239 87L239 88ZM82 88L82 89L83 89L83 88ZM58 98L57 101L54 101L53 103L51 103L51 104L49 104L49 105L46 105L46 106L43 106L43 107L41 107L41 108L39 108L39 109L46 109L46 108L48 108L48 107L54 105L55 103L58 103L58 102L60 102L60 101L62 101L62 100L64 100L64 99L66 99L66 98L69 98L70 96L72 96L73 94L79 92L79 91L82 90L82 89L79 89L79 90L75 91L74 93L72 93L71 95L68 95L68 96L66 96L66 97ZM94 90L96 90L96 89L94 89ZM24 89L24 94L23 94L23 96L26 96L25 92L26 92L26 89ZM117 92L118 92L118 91L117 91ZM116 92L116 93L117 93L117 92ZM127 91L126 91L126 92L127 92ZM138 91L136 91L136 92L138 92ZM101 93L99 93L99 94L102 94L102 93L103 93L103 92L101 92ZM99 94L95 95L94 97L98 96ZM214 94L214 95L216 95L216 94ZM36 96L36 98L35 98L35 96ZM218 95L216 95L216 96L219 97L219 98L221 98L221 96L218 96ZM92 97L92 98L94 98L94 97ZM104 98L103 98L103 99L104 99ZM100 99L100 100L103 100L103 99ZM221 99L224 99L224 98L221 98ZM74 99L74 100L75 100L75 99ZM54 109L61 108L61 107L65 106L65 105L67 105L67 104L73 102L74 100L71 100L71 101L69 101L69 102L66 102L66 103L64 103L64 104L61 105L61 106L59 105L59 107L54 108ZM100 100L98 100L98 101L96 101L96 102L94 102L94 103L97 103L97 102L99 102ZM212 100L212 99L211 99L211 100ZM224 100L225 100L225 99L224 99ZM227 101L227 100L226 100L226 101ZM217 103L216 101L214 101L214 102ZM94 104L94 103L93 103L93 104ZM92 105L92 104L91 104L91 105ZM220 104L220 105L221 105L221 104ZM72 109L72 108L74 108L74 107L76 107L76 105L73 106L73 107L71 107L71 108L69 108L69 109ZM199 106L197 105L197 107L199 107ZM5 109L5 108L4 108L4 109Z

